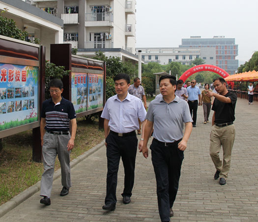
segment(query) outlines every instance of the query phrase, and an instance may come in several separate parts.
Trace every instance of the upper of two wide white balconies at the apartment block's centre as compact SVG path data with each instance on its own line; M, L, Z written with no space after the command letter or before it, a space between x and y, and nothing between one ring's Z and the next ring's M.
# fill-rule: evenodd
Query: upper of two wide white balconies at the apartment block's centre
M85 26L95 27L95 26L109 26L113 27L113 13L103 12L103 13L86 13L85 14Z

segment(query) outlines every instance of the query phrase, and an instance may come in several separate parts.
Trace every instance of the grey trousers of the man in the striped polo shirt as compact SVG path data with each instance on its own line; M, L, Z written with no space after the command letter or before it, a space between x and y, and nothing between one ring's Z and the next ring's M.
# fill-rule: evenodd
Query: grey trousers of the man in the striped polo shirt
M70 151L67 151L67 144L70 138L70 133L69 135L45 133L42 146L44 173L41 178L41 196L50 197L51 195L57 155L61 166L62 186L66 188L71 187Z

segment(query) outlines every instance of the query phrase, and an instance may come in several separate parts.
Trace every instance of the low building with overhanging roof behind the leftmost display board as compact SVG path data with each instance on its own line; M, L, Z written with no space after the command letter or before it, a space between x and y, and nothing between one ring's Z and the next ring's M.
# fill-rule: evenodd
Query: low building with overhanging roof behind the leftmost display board
M0 0L1 16L13 19L16 26L41 40L46 46L46 59L50 59L50 44L63 42L63 21L32 6L29 0Z

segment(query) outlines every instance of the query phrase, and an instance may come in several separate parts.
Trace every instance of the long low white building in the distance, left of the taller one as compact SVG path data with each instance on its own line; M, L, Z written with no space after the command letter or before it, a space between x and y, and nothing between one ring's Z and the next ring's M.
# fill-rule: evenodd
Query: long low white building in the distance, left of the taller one
M191 65L193 60L200 58L200 49L193 48L136 48L138 53L142 50L142 60L144 63L160 63L168 64L171 62L179 62Z

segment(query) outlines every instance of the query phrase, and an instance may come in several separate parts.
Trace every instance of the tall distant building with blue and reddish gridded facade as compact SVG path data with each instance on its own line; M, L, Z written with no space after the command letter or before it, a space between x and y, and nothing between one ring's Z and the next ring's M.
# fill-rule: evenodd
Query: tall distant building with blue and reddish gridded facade
M229 74L234 74L238 68L238 45L234 38L225 36L214 36L213 38L201 38L201 36L191 36L183 38L179 47L201 49L201 59L207 64L219 66Z

